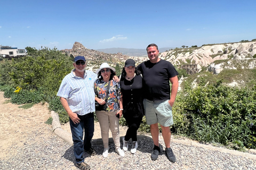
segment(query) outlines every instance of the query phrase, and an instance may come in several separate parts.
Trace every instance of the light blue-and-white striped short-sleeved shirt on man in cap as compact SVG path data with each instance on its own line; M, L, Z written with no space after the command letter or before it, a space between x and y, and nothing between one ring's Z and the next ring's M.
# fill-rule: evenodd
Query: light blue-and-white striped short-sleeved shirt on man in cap
M78 115L95 112L94 81L97 74L86 70L84 78L76 77L71 71L62 80L57 96L66 98L72 112Z

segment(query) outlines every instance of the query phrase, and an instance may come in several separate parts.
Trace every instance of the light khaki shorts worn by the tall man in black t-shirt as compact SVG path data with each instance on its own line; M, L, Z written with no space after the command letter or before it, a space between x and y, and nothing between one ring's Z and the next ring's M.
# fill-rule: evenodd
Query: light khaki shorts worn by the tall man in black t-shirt
M159 123L164 127L173 125L172 107L169 100L151 101L143 100L145 116L148 125Z

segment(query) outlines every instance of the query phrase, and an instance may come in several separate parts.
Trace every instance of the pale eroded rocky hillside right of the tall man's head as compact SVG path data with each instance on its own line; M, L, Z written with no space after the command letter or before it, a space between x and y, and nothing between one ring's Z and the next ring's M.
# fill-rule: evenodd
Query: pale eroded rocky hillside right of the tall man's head
M256 41L176 48L161 54L163 59L174 65L197 64L198 69L201 69L202 66L209 66L214 61L256 58Z

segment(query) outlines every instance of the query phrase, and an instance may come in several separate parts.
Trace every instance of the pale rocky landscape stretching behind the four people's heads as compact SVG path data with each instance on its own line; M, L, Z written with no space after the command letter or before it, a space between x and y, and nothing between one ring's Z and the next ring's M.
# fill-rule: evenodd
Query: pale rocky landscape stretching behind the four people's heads
M103 62L108 62L112 66L117 63L123 66L128 58L133 58L137 65L148 60L147 56L133 57L122 53L111 54L110 51L109 53L99 52L98 50L88 49L78 42L74 43L72 49L61 51L67 55L85 56L88 61L87 66L91 66L90 70L93 71ZM256 41L175 48L161 53L160 57L170 61L178 68L181 68L182 65L196 64L199 71L202 67L209 67L216 74L223 69L236 69L232 63L237 60L245 63L242 67L252 69L256 66Z

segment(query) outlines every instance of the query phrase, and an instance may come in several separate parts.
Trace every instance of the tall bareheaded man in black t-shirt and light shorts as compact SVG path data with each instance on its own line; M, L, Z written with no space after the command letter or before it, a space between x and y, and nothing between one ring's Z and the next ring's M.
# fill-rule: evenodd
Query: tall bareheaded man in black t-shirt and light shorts
M158 57L159 50L156 44L150 44L146 49L149 61L141 63L138 69L141 71L145 83L145 87L143 87L145 90L143 105L145 107L147 124L150 125L150 132L154 141L151 159L156 160L160 152L158 140L159 123L166 147L165 154L174 163L176 158L170 146L170 126L173 124L172 106L179 86L178 72L170 62ZM172 83L171 90L169 81Z

